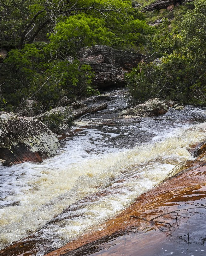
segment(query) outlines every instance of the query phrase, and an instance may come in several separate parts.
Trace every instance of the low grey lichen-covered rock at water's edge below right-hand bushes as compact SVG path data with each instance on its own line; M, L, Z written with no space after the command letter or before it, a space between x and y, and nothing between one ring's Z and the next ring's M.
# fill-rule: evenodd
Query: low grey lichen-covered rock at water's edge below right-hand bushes
M118 116L154 117L165 114L168 109L169 107L159 99L149 99L143 104L123 110Z

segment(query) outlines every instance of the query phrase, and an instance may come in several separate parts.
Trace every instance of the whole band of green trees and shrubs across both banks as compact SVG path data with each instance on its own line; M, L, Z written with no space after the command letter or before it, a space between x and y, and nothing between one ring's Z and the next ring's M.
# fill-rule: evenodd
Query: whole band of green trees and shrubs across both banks
M95 44L151 55L126 77L139 102L160 97L205 104L205 0L143 14L153 2L1 1L0 50L9 53L0 63L0 110L18 112L33 99L39 113L60 97L98 93L91 67L77 59L80 48Z

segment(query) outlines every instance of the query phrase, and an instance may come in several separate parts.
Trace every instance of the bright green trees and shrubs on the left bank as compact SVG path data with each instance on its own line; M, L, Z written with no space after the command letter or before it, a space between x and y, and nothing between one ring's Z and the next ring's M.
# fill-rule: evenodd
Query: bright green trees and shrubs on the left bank
M6 0L0 3L0 108L19 111L36 99L37 112L62 96L96 93L80 48L95 44L137 49L152 29L129 0ZM72 56L72 57L71 57Z

